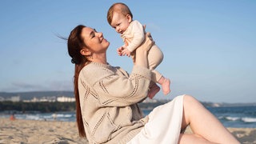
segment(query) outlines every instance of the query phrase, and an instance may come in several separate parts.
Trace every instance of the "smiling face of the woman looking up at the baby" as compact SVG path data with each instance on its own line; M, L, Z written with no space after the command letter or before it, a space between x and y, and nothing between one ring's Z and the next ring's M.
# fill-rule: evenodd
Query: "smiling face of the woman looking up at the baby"
M102 33L90 27L84 27L81 35L86 47L94 54L105 53L108 46L110 46L110 42L103 37Z

